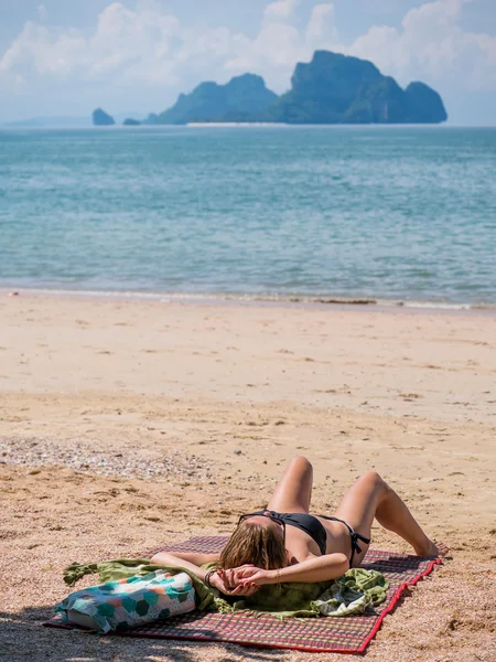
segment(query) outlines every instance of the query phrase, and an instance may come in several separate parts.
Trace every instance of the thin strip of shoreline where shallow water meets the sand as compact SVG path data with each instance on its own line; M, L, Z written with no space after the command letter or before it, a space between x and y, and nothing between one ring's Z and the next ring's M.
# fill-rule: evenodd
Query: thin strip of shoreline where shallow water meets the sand
M0 286L0 296L48 297L106 301L150 301L157 303L180 303L184 306L239 306L260 308L296 308L308 310L354 310L375 312L409 312L428 314L476 314L496 317L496 303L454 303L441 301L419 301L405 299L381 299L375 297L332 297L308 295L230 295L155 292L129 290L78 290L60 288L9 288Z

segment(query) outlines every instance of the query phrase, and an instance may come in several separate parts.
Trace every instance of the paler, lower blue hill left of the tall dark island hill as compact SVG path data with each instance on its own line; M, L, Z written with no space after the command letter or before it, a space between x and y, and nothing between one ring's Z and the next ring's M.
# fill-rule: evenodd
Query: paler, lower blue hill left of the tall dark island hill
M201 83L191 94L181 94L172 108L153 119L154 124L166 125L257 121L277 99L278 95L267 89L261 76L244 74L226 85Z

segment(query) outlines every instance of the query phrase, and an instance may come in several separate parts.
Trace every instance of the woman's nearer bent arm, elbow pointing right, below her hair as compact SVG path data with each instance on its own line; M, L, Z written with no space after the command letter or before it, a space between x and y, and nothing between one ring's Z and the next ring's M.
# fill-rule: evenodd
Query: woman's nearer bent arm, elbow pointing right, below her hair
M233 570L233 583L236 585L262 586L263 584L281 584L287 581L316 583L341 577L349 568L345 554L324 554L306 558L301 563L278 570L265 570L255 566L245 566ZM227 570L228 572L228 570ZM228 581L230 584L230 580Z

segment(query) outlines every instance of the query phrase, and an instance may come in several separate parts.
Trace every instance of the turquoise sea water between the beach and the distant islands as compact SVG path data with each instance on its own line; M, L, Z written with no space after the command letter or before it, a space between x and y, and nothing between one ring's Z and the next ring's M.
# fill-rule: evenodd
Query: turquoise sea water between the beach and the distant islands
M0 286L496 303L496 129L0 131Z

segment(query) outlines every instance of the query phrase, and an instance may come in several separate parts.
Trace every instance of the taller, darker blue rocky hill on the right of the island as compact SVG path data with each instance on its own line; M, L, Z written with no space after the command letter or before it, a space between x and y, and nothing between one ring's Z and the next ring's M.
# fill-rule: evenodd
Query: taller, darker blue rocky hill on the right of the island
M268 110L287 124L405 124L448 119L440 95L423 83L403 90L367 60L316 51L298 63L291 90Z

